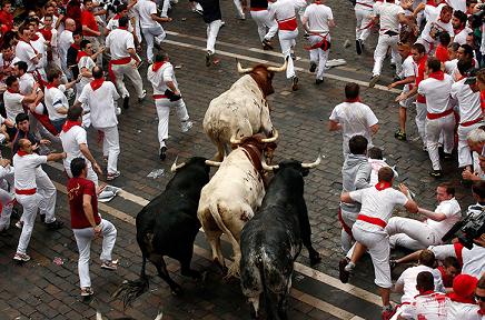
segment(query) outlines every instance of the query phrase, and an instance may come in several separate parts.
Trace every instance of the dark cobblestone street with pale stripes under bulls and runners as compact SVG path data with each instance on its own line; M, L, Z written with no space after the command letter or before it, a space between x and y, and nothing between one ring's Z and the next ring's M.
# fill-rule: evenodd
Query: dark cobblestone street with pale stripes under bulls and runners
M451 181L457 186L456 198L462 209L472 203L471 189L459 182L456 154L444 163L445 178L435 180L428 176L430 162L426 152L417 141L414 123L414 110L408 112L408 141L394 138L397 129L397 107L393 102L397 90L389 91L393 70L384 64L383 86L374 89L365 83L370 78L373 52L367 49L357 56L354 49L355 16L353 7L346 0L328 0L333 8L337 27L333 32L330 59L345 59L346 66L330 69L326 73L325 83L315 84L314 76L308 71L308 52L303 39L303 30L297 40L296 61L300 90L291 92L290 82L284 74L276 74L274 87L276 92L269 97L271 120L279 131L278 148L275 162L294 158L300 161L314 161L318 150L326 157L321 163L306 178L305 198L308 207L313 242L323 256L323 262L309 267L308 252L301 250L293 280L291 299L289 301L289 319L380 319L380 298L374 286L374 271L368 257L357 266L356 273L349 284L338 280L338 261L343 257L340 249L340 224L337 220L338 200L342 190L342 133L328 132L327 121L331 109L344 100L344 87L347 81L362 84L362 100L370 106L379 120L379 131L374 144L384 149L388 163L396 166L399 182L406 183L416 194L419 206L434 210L436 207L434 191L436 184ZM121 153L118 168L120 178L113 186L122 188L119 197L100 204L103 218L113 222L118 229L115 258L120 259L118 271L100 269L98 254L100 240L93 242L91 249L91 280L95 300L90 303L81 301L79 296L79 278L77 274L77 247L69 228L69 208L66 197L66 176L61 163L51 163L44 171L58 188L58 219L66 226L59 231L48 231L40 221L36 222L29 246L31 261L23 266L12 262L20 230L13 224L8 233L0 237L0 319L95 319L96 309L102 311L108 319L133 317L135 319L155 319L157 311L164 311L166 319L249 319L249 308L241 293L239 281L225 280L224 274L210 261L210 248L202 232L199 232L192 267L207 271L202 283L197 283L180 276L179 264L167 259L171 277L184 288L184 294L174 297L168 286L157 277L156 269L150 266L149 292L123 310L120 299L111 298L123 280L138 278L141 268L141 252L136 242L135 217L147 201L154 199L172 177L170 166L178 156L180 161L192 156L211 158L216 151L202 132L202 119L209 101L227 90L239 77L236 58L245 66L270 62L283 63L277 37L274 39L275 51L260 49L256 24L248 16L246 21L236 20L232 1L221 1L222 18L226 26L220 30L216 44L216 54L220 63L207 68L205 66L206 27L200 16L190 12L187 1L175 6L171 17L174 21L164 24L168 37L162 48L170 54L176 70L188 112L195 122L194 128L182 133L175 114L170 116L170 138L167 141L167 159L158 158L158 140L156 109L151 99L151 86L146 80L145 63L140 69L145 89L148 93L142 103L138 103L136 94L131 94L131 104L119 116ZM367 48L374 48L376 34ZM345 49L348 39L350 47ZM145 54L145 52L143 52ZM127 83L130 83L127 80ZM384 86L385 84L385 86ZM130 92L133 89L128 86ZM88 130L89 147L93 156L101 162L102 153L97 143L97 132ZM61 146L53 147L61 150ZM164 169L156 179L147 176L155 169ZM212 169L212 174L215 169ZM404 210L404 209L403 209ZM405 216L404 212L396 214ZM230 246L225 243L225 257L230 257ZM403 254L393 252L392 254ZM60 259L56 259L60 258ZM55 263L53 261L58 262ZM61 262L59 262L61 261Z

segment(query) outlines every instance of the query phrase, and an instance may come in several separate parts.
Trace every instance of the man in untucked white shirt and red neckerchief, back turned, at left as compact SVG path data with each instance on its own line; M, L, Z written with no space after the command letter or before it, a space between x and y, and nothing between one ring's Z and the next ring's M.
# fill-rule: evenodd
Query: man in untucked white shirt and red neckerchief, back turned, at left
M108 158L106 180L111 181L120 176L118 156L120 153L116 100L120 97L110 81L105 81L102 69L92 68L95 80L82 89L75 106L88 104L91 110L91 123L96 130L103 132L102 153Z

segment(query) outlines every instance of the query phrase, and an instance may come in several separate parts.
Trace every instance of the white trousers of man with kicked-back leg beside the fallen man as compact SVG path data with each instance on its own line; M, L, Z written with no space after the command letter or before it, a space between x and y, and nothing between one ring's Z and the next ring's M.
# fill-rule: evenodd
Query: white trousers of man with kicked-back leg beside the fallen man
M370 259L374 264L376 286L380 288L390 288L393 282L390 280L390 266L389 266L389 236L386 231L367 231L354 224L352 228L355 241L367 247ZM350 258L354 252L355 244L348 251L347 257Z

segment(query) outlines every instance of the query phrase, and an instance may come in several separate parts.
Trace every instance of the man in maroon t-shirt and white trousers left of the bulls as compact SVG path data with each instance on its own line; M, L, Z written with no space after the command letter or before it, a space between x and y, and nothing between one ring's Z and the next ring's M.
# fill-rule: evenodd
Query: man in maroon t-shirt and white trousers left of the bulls
M77 126L79 122L67 121L65 129ZM63 129L63 130L65 130ZM70 169L72 178L68 181L69 208L71 211L71 228L78 244L78 272L81 287L81 297L93 294L89 277L89 259L91 241L102 237L101 268L116 270L118 261L111 259L117 230L108 220L101 219L98 213L98 193L102 189L95 187L95 182L87 179L88 166L85 158L75 158Z

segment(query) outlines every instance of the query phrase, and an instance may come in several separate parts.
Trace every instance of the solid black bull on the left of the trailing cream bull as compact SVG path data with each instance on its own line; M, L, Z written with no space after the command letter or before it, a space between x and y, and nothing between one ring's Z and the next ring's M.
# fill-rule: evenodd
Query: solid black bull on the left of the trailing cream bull
M137 242L142 254L140 278L125 281L113 293L123 294L125 306L148 290L149 281L145 273L147 259L155 264L160 276L170 287L174 294L181 292L167 272L164 256L180 262L182 276L200 279L200 272L190 269L194 253L194 241L200 229L197 219L197 207L200 190L209 182L210 167L220 163L194 157L187 162L177 164L175 160L171 171L174 178L167 183L165 191L141 209L136 218Z

